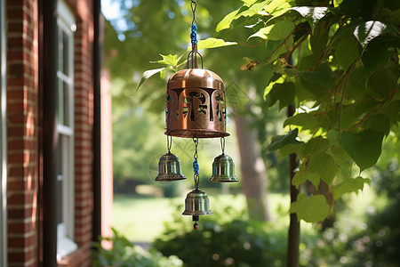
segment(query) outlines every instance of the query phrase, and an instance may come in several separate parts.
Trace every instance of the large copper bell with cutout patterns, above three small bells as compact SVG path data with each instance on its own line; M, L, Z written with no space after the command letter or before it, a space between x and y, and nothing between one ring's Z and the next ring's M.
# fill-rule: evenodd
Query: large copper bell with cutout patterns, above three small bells
M222 79L207 69L182 69L172 75L166 85L165 120L165 134L172 136L228 136Z

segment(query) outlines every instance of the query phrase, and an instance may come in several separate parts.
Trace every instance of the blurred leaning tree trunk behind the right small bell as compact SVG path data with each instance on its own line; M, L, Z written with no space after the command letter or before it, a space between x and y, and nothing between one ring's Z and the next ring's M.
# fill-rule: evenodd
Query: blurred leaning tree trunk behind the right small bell
M253 219L268 221L266 170L260 157L257 132L249 127L247 117L236 114L236 135L240 151L242 186L247 200L249 215Z

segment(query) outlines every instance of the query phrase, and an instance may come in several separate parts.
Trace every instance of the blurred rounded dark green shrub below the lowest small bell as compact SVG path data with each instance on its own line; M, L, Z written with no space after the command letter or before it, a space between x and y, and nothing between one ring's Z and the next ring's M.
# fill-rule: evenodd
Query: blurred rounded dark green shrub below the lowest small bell
M156 239L153 246L163 255L178 255L185 266L284 265L285 229L277 230L271 223L243 220L243 214L233 208L202 216L198 231L181 217L166 224L164 236Z

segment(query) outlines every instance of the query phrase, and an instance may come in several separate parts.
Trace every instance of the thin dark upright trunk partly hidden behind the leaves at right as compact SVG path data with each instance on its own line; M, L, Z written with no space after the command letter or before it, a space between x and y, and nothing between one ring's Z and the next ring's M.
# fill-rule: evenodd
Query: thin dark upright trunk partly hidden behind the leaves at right
M292 117L294 114L294 107L291 105L287 109L287 116ZM290 174L290 192L291 204L296 201L299 190L292 185L294 170L298 164L296 161L296 154L289 155L289 174ZM297 214L291 214L291 223L289 224L289 233L287 240L287 253L286 253L286 267L299 266L299 245L300 245L300 222L297 220Z

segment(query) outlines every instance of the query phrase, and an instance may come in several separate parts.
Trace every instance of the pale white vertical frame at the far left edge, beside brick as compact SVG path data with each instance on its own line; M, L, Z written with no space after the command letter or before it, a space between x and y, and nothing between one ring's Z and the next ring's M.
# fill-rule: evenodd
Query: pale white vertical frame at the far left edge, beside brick
M7 142L5 1L0 1L0 266L7 266Z

